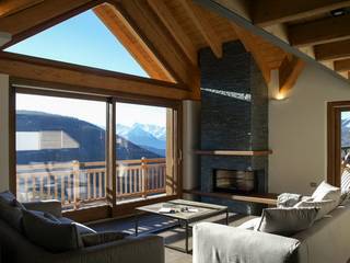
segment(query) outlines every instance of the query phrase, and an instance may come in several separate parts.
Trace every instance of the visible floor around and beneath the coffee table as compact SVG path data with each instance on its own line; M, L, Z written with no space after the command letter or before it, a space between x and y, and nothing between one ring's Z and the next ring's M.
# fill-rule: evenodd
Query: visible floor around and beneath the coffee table
M230 226L236 226L243 221L248 220L250 217L230 214ZM220 215L207 219L206 221L213 221L224 224L225 215ZM139 218L139 233L154 233L164 238L164 242L172 247L185 248L185 230L183 228L174 227L178 222L174 219L168 219L158 215L143 215ZM124 231L130 235L135 235L135 221L133 218L114 219L107 221L100 221L89 224L89 226L96 231ZM189 239L191 248L191 238ZM192 262L191 254L186 254L173 249L165 249L165 262L166 263L190 263Z

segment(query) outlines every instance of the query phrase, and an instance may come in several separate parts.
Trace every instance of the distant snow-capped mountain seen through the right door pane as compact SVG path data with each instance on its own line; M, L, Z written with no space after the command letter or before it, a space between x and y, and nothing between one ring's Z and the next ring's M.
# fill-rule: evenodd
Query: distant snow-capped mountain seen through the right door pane
M118 124L117 135L156 155L165 156L165 148L166 148L165 127L151 125L151 124L138 124L138 123L129 127L129 126Z

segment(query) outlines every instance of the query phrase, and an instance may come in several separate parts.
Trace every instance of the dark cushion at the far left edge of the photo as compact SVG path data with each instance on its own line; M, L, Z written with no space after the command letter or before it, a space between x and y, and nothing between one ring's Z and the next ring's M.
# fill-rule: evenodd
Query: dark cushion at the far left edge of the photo
M20 232L22 231L23 209L25 209L23 205L11 192L0 193L0 218Z

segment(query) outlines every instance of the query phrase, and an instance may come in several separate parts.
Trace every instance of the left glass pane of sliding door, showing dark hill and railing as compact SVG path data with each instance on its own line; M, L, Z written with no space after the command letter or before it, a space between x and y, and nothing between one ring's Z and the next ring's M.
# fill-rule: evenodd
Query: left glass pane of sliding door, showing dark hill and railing
M59 199L65 209L106 203L106 102L16 94L21 202Z

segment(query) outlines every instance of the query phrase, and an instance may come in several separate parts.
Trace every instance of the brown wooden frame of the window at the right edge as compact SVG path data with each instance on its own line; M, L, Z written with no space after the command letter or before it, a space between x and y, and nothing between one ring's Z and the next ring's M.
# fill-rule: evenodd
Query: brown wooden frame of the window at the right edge
M327 182L340 186L341 112L350 111L350 101L327 103Z

